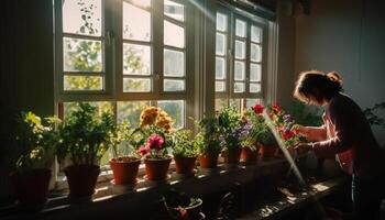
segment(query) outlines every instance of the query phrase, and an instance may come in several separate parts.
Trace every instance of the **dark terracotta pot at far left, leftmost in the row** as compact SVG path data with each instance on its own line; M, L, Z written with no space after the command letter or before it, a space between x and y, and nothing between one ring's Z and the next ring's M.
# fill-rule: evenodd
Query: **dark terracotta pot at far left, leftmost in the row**
M45 207L51 169L32 169L10 175L18 205L25 211L38 211Z

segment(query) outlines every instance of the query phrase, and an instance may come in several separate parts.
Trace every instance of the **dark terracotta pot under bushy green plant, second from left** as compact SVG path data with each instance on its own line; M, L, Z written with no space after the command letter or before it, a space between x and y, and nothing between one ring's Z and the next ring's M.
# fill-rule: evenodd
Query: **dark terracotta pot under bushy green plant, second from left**
M70 198L90 197L95 193L95 186L100 174L97 165L72 165L64 169L67 176Z

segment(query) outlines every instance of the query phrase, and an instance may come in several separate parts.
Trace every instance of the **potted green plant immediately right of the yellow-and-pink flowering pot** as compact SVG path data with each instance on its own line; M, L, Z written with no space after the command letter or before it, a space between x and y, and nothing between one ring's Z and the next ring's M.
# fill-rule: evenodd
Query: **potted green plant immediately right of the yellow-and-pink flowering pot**
M194 176L195 162L198 147L190 140L191 131L178 130L174 132L173 155L176 173L185 176Z

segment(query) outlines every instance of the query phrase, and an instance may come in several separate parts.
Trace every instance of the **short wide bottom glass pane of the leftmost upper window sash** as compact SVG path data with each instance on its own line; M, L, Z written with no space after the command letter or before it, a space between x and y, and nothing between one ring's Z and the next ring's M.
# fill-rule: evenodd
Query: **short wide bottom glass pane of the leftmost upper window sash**
M102 90L101 76L64 76L64 90Z

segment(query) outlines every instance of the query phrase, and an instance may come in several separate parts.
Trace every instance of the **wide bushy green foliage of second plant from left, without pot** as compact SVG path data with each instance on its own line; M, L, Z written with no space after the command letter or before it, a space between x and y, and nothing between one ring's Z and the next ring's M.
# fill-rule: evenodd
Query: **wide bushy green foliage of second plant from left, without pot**
M58 160L64 161L69 156L74 165L99 163L101 156L114 143L114 130L111 112L105 111L99 116L96 107L78 103L78 109L58 125Z

